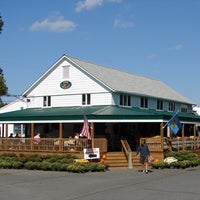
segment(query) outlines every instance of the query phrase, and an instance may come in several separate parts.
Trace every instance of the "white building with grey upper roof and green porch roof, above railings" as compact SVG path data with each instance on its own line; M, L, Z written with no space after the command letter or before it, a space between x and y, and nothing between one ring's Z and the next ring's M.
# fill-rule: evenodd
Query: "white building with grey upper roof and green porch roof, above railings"
M94 138L106 138L107 151L119 150L121 138L135 149L138 137L167 136L161 126L178 110L184 134L193 135L200 121L194 105L159 80L63 55L20 100L1 108L1 137L40 132L42 138L68 138L80 132L86 115Z

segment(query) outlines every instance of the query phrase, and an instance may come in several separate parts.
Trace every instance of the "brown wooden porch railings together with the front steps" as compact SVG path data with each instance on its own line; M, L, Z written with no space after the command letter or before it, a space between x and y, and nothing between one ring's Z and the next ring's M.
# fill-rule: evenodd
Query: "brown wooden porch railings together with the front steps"
M184 140L183 138L176 137L172 138L170 143L168 138L162 138L161 136L141 138L141 140L144 139L149 146L151 155L154 157L154 160L158 161L163 161L165 153L170 151L200 152L199 137L184 137ZM38 144L34 144L34 138L0 138L0 153L68 153L83 158L83 149L93 147L99 148L101 155L106 154L105 162L108 163L108 165L111 167L139 167L139 158L136 158L136 152L131 151L126 140L121 141L121 144L121 151L118 153L115 152L115 154L113 154L112 152L108 152L106 138L93 138L92 140L87 140L86 138L40 138Z

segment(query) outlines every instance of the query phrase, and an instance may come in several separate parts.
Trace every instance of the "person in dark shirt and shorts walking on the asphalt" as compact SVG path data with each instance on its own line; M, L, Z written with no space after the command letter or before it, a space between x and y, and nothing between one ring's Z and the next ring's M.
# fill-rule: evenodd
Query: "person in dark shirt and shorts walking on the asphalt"
M148 157L150 156L149 147L144 140L141 145L137 148L137 156L140 156L140 163L143 167L143 173L148 174Z

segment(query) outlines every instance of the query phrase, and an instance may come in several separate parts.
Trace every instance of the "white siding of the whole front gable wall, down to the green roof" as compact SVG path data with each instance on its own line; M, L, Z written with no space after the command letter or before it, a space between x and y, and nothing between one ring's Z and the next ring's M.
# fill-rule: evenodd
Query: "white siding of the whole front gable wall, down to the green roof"
M63 79L63 66L70 66L70 77ZM62 89L60 83L70 81L72 86ZM92 77L74 67L67 61L56 67L40 84L28 95L30 107L42 107L43 96L51 96L52 107L80 106L82 105L82 94L91 94L90 105L110 105L112 95Z

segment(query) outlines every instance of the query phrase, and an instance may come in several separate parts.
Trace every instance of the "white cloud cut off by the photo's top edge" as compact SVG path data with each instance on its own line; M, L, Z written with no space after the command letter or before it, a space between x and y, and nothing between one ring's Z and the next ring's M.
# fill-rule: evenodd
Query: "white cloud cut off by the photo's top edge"
M97 6L101 6L103 4L103 0L84 0L79 1L76 5L76 11L80 12L83 9L92 10Z

